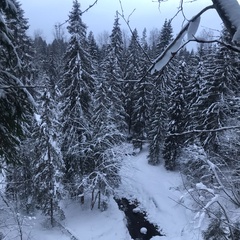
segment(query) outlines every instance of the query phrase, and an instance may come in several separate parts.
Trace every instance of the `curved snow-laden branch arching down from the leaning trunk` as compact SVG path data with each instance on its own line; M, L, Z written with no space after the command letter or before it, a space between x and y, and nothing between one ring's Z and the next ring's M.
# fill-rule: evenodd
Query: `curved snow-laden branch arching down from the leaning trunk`
M176 38L168 45L168 47L164 50L164 52L155 59L153 65L150 67L149 71L153 74L155 72L160 71L170 59L175 55L175 52L181 46L182 39L188 31L190 24L196 21L204 12L208 11L209 9L214 9L215 6L211 5L202 9L198 14L196 14L185 26L182 30L178 33Z

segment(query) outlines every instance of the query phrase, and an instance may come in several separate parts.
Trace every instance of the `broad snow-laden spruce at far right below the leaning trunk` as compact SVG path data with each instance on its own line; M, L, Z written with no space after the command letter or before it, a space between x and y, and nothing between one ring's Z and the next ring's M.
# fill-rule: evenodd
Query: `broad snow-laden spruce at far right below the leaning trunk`
M226 126L226 120L230 116L230 102L237 91L237 68L231 64L231 58L227 49L222 47L209 54L204 61L204 76L200 96L193 105L194 115L198 130L214 130ZM234 89L235 88L235 89ZM203 114L199 115L199 111ZM199 134L205 150L217 152L220 132L209 131Z

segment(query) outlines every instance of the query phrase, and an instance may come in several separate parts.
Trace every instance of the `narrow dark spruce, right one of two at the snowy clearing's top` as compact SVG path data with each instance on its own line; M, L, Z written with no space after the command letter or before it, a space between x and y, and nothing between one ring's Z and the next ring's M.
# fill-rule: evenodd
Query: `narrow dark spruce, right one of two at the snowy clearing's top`
M183 136L174 134L184 132L187 125L187 103L185 101L186 95L184 88L188 81L186 68L187 66L184 61L179 63L179 69L174 78L175 82L168 110L168 136L165 138L163 149L165 167L168 170L174 170L176 168L176 159L179 155L180 148L185 142Z

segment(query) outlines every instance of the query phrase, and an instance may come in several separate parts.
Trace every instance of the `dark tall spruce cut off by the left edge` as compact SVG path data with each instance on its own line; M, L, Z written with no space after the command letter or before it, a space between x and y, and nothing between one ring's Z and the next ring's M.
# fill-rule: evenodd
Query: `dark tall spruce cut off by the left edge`
M25 135L26 122L32 115L32 98L27 89L22 88L28 74L21 62L22 46L27 26L23 22L20 6L15 2L1 1L0 5L0 155L8 163L18 162L16 154L21 138ZM15 22L16 25L10 24ZM19 41L13 39L14 29L19 27ZM24 28L26 27L26 29ZM29 46L30 47L30 46ZM18 51L19 50L19 51ZM23 80L24 79L24 80ZM24 81L24 82L23 82ZM0 163L0 165L2 162Z

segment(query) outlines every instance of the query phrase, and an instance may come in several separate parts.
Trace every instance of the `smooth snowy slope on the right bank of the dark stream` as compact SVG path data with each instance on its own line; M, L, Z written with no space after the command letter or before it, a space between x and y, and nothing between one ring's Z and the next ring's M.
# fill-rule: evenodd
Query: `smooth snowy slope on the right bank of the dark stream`
M195 229L197 223L193 222L194 214L177 203L180 199L183 201L185 196L181 175L166 171L162 165L149 165L147 153L145 149L140 154L125 159L120 194L139 200L143 210L148 213L148 219L157 224L166 235L158 237L159 239L202 239L200 230Z

